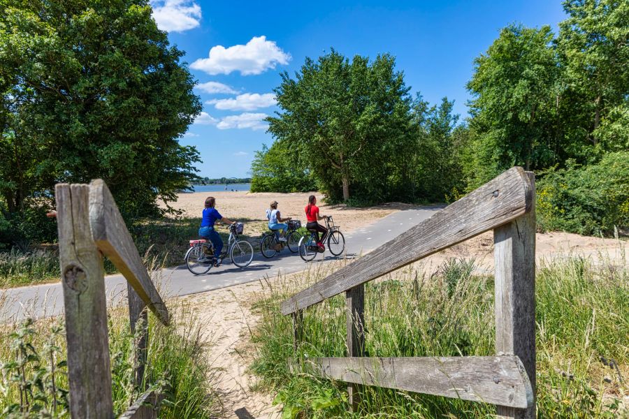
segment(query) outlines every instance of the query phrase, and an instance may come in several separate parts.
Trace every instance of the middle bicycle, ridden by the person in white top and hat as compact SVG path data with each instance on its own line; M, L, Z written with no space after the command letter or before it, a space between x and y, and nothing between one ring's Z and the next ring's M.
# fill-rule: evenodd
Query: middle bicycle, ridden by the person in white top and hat
M238 240L238 235L243 234L243 223L233 223L229 226L229 239L227 246L221 252L220 258L229 258L238 267L247 267L253 260L253 246L247 240ZM209 240L190 240L190 249L185 256L186 267L195 275L208 273L215 263L214 246Z

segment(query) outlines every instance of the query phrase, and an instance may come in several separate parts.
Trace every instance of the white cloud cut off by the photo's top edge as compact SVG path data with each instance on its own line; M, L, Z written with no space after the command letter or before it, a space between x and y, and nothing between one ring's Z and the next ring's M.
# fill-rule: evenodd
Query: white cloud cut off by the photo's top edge
M183 32L200 24L201 7L192 0L151 0L151 6L162 31Z

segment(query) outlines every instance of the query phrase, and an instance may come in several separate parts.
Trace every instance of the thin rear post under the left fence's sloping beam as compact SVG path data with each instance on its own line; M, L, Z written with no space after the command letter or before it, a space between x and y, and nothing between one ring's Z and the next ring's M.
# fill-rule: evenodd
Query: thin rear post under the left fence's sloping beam
M131 334L133 335L133 339L135 341L134 348L136 351L133 354L133 384L136 385L140 391L144 391L146 389L146 385L143 385L143 378L144 368L146 365L146 346L148 341L148 311L145 308L146 304L142 301L129 282L126 283L126 293L129 298L129 323L131 325ZM142 327L140 332L136 332L138 321Z

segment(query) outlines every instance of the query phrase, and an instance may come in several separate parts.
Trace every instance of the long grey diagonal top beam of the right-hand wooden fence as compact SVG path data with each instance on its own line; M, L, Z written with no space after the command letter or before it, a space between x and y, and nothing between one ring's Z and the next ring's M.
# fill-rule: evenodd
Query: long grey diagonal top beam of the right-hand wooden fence
M514 167L426 221L386 242L282 302L282 314L310 307L475 235L502 226L533 208L535 191L520 167Z

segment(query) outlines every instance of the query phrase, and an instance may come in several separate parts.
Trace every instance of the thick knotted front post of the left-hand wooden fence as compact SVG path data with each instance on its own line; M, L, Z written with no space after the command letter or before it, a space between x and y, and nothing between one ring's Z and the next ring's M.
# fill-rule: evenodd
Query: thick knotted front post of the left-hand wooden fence
M89 186L57 184L72 418L113 417L103 259L89 228Z

